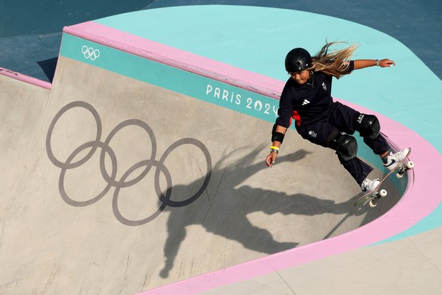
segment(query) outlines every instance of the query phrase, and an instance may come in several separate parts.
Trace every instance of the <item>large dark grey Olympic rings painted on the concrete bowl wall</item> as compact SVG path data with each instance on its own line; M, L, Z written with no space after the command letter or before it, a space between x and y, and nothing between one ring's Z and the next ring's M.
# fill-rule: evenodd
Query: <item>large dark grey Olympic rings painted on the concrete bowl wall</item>
M64 113L66 113L66 111L68 111L69 109L73 109L75 107L84 108L92 114L93 118L95 118L95 123L96 123L96 127L97 127L97 134L95 136L95 140L83 143L79 147L75 148L75 150L73 150L71 155L68 156L66 161L62 162L62 161L59 161L59 159L57 159L53 153L53 150L51 147L51 138L52 138L55 124L57 123L59 118ZM145 159L143 161L139 161L138 163L135 163L133 166L131 166L131 168L129 168L129 170L127 170L122 175L122 177L119 180L117 180L116 179L116 175L117 175L116 154L111 149L111 146L109 145L109 143L110 143L111 139L113 138L113 136L115 136L118 132L120 132L120 130L122 128L127 127L129 125L136 125L136 126L141 127L142 129L145 130L145 132L147 133L147 135L150 138L151 145L152 145L151 155L150 155L149 159ZM183 207L183 206L187 206L187 205L191 204L192 202L196 201L196 199L198 199L203 194L204 190L207 188L207 186L209 184L210 177L212 175L212 159L210 157L210 153L209 153L207 147L205 147L205 145L203 143L201 143L201 141L198 141L195 138L182 138L182 139L176 141L175 143L172 143L172 145L170 145L167 148L167 150L165 150L165 152L160 157L160 159L156 160L156 138L155 138L154 132L151 129L151 127L149 127L149 125L147 125L147 123L143 122L142 120L129 119L129 120L123 121L122 123L118 124L115 128L113 128L113 130L110 132L109 136L107 136L107 138L104 142L100 141L101 136L102 136L102 125L101 125L101 120L100 120L100 116L98 115L98 112L94 109L94 107L92 105L89 105L89 103L83 102L83 101L71 102L68 105L62 107L62 109L60 109L58 111L58 113L55 115L55 117L53 118L52 122L49 125L48 134L46 136L46 152L48 154L50 161L55 166L62 169L62 171L60 172L60 175L59 175L59 183L58 183L59 184L59 193L60 193L62 199L64 200L64 202L66 202L67 204L69 204L71 206L76 206L76 207L89 206L95 202L98 202L113 187L113 188L115 188L115 190L113 192L112 208L113 208L113 213L116 216L117 220L120 221L122 224L126 224L129 226L138 226L138 225L142 225L142 224L147 224L148 222L151 222L151 220L154 220L166 208L166 206ZM183 201L173 201L170 199L170 196L172 195L172 189L173 189L172 177L170 175L169 170L167 170L167 167L164 165L164 162L165 162L167 156L173 150L180 147L181 145L194 145L194 146L198 147L201 150L201 152L203 152L203 154L204 154L207 168L206 168L206 173L205 173L205 178L204 178L203 184L201 185L201 188L199 188L199 190L196 193L194 193L194 195L187 197L187 199L184 199ZM64 188L64 179L66 177L66 171L82 166L84 163L86 163L86 161L91 159L91 157L93 156L93 154L95 153L95 151L98 148L101 149L100 172L102 174L103 179L107 182L107 186L102 190L101 193L99 193L95 197L91 197L90 199L88 199L86 201L76 201L68 196L68 194L66 193L66 190ZM78 154L82 153L86 149L91 149L91 150L82 159L79 159L79 160L73 162L75 157L77 157ZM105 159L106 154L111 159L112 170L111 170L110 174L107 172L106 167L104 166L104 159ZM160 199L161 205L158 208L158 210L156 210L156 212L152 213L151 215L149 215L148 217L145 217L142 220L129 220L126 217L122 216L122 214L120 213L120 210L118 208L118 195L120 193L120 190L122 188L127 188L129 186L133 186L133 185L137 184L139 181L144 179L144 177L149 173L149 170L151 170L151 168L153 168L153 167L156 168L155 177L154 177L154 187L155 187L156 195L157 195L158 199ZM127 178L129 177L129 175L131 175L134 171L139 170L140 168L144 168L144 170L142 170L140 175L131 179L130 181L127 181ZM167 191L166 191L165 195L163 194L163 192L161 191L161 188L160 188L160 172L163 172L163 175L165 176L166 183L167 183Z

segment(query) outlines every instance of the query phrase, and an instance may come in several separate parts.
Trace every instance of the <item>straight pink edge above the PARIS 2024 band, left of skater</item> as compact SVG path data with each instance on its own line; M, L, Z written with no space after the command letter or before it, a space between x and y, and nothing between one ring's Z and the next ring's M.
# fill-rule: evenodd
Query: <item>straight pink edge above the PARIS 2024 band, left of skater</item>
M183 71L190 71L213 80L232 84L248 91L261 93L271 98L279 98L278 92L281 84L279 80L242 69L238 71L237 68L229 64L131 35L93 21L64 27L63 32ZM266 87L262 87L263 84Z

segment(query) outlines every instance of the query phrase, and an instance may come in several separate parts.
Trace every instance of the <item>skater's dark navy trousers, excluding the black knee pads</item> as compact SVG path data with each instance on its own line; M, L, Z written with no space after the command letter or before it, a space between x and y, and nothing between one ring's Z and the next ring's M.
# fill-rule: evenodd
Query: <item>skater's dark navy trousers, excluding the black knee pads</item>
M296 126L297 132L308 141L323 147L329 147L326 144L330 134L336 131L345 134L354 134L356 118L360 116L358 111L355 111L347 105L342 105L340 102L333 102L328 114L325 114L324 119L316 123L302 123L301 126ZM383 154L389 150L389 145L382 134L376 138L364 137L364 143L367 144L375 154ZM339 159L344 168L350 172L351 176L362 184L362 181L373 170L367 163L355 157L349 161Z

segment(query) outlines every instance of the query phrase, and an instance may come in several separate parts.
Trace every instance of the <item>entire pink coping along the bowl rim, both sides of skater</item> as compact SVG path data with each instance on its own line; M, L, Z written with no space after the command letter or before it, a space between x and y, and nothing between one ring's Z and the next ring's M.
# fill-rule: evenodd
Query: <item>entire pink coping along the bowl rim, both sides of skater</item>
M92 21L66 27L64 32L273 98L279 98L280 91L284 87L282 81L237 69L228 64L143 39ZM383 125L383 132L389 136L389 141L399 147L412 146L412 160L416 163L416 168L414 168L414 174L408 172L409 185L398 204L373 222L334 238L213 271L142 294L194 294L270 274L277 270L288 269L380 242L405 231L434 211L434 208L441 202L437 187L439 181L437 175L439 167L442 166L441 154L419 134L396 121L365 107L343 102L358 111L378 116ZM424 197L425 202L421 202Z

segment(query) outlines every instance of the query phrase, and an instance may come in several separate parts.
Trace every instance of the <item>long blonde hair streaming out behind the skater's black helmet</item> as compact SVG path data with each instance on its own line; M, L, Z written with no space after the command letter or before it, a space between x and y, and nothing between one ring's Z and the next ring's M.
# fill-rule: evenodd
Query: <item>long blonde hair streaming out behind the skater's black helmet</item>
M345 42L326 42L326 44L322 46L320 52L311 57L312 66L309 68L309 70L322 71L323 73L332 75L335 78L341 78L349 67L351 56L359 47L356 44L352 44L347 48L329 52L330 46L342 43Z

